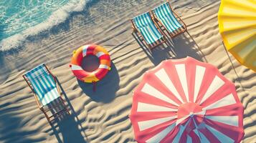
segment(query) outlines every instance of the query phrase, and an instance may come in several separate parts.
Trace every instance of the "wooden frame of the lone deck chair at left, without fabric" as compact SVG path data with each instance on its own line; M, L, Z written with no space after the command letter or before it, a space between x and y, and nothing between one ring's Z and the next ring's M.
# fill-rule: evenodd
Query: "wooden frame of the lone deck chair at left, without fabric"
M47 121L49 122L49 124L52 125L52 121L54 121L54 119L57 119L58 117L60 117L62 114L65 114L67 112L67 114L70 114L70 112L68 111L67 109L67 106L65 105L65 100L62 98L62 94L60 92L60 85L57 83L57 77L54 76L54 74L52 74L51 71L49 71L49 68L43 64L45 66L45 68L47 69L48 73L51 74L51 76L53 77L54 79L54 82L57 84L57 91L58 93L60 94L60 104L62 104L62 106L64 107L64 109L61 109L60 111L52 114L52 116L49 116L47 114L47 112L51 111L52 109L54 109L54 107L57 107L57 106L53 106L52 108L49 108L49 109L44 109L44 107L46 106L43 106L42 104L39 104L39 99L37 97L37 93L34 91L34 88L32 87L32 84L29 82L29 79L26 77L26 75L22 75L22 77L25 79L25 81L27 82L27 84L29 85L30 89L32 89L32 92L34 94L34 99L36 100L37 102L37 107L44 113L45 117L47 118ZM57 116L56 116L57 115Z

